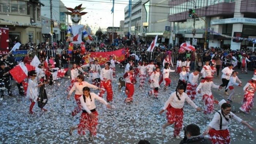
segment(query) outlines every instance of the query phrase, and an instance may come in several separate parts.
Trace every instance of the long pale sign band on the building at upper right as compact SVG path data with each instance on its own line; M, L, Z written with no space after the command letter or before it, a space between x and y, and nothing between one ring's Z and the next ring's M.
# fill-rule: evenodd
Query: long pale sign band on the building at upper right
M211 24L226 24L226 23L251 23L256 24L256 19L252 18L229 18L211 20Z

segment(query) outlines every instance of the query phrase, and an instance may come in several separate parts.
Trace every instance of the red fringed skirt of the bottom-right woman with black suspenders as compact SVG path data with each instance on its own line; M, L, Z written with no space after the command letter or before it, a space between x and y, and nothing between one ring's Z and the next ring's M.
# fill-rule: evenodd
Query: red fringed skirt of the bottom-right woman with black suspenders
M230 134L228 129L210 129L208 134L212 144L230 144Z

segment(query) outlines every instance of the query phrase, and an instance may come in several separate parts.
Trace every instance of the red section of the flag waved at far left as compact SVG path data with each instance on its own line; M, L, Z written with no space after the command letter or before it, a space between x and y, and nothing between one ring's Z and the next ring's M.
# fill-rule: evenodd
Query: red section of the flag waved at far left
M9 72L18 83L22 82L27 77L27 74L23 71L23 69L19 65L11 69Z

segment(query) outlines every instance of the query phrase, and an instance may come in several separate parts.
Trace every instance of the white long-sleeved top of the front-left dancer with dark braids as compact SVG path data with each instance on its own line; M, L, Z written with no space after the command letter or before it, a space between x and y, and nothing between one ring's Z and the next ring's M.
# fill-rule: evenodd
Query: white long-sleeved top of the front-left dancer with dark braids
M85 110L88 114L91 113L90 110L93 110L96 108L96 105L95 105L95 99L99 100L99 102L103 103L104 105L108 105L108 103L101 97L99 97L97 94L95 94L94 92L90 92L91 94L91 99L90 99L90 96L87 98L86 96L85 97L85 102L84 102L84 99L83 99L83 95L80 96L80 102L81 102L81 105L82 105L82 109Z

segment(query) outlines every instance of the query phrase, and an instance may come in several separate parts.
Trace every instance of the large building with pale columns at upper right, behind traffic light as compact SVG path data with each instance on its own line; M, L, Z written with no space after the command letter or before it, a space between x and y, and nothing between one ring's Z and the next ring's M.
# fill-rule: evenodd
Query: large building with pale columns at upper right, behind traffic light
M225 49L251 48L252 41L239 41L231 37L256 38L255 0L172 0L169 1L171 37L173 43L193 43L204 47L207 30L207 48ZM194 18L189 9L195 10ZM195 19L195 20L194 20ZM205 21L204 21L205 20ZM195 24L195 26L194 26Z

